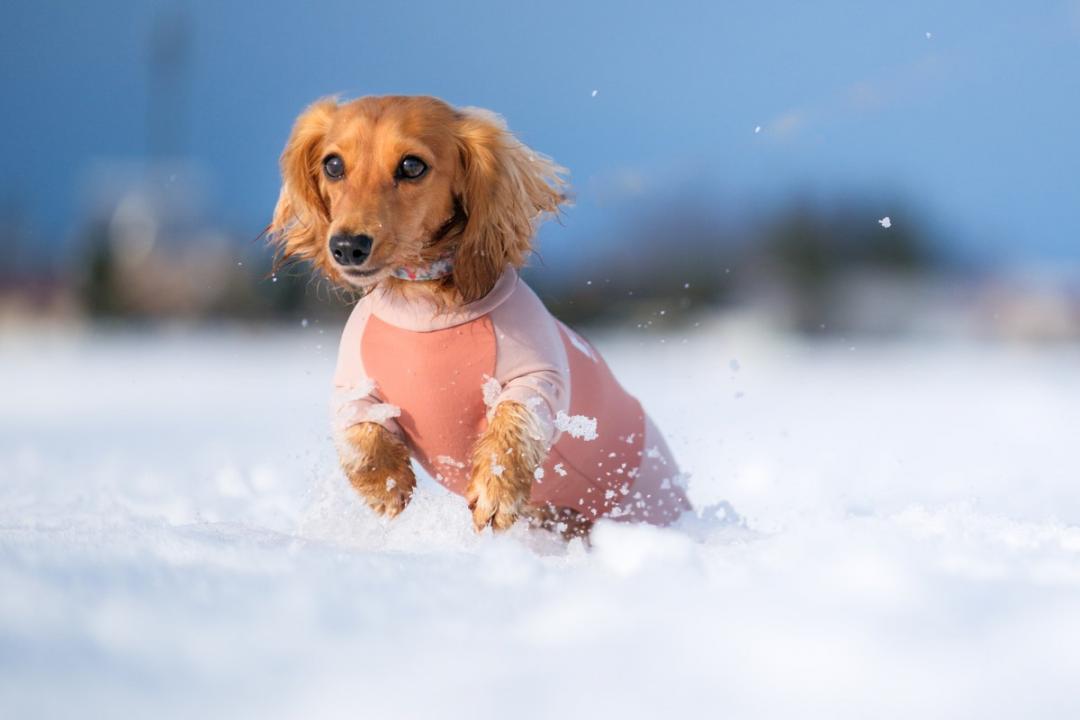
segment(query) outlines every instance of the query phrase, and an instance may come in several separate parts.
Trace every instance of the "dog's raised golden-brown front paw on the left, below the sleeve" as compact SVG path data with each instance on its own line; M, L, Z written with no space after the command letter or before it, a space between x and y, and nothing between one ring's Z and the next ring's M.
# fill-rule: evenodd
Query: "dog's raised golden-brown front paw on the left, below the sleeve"
M362 422L347 429L337 445L341 470L368 507L388 517L405 510L416 476L408 448L396 435L377 423Z

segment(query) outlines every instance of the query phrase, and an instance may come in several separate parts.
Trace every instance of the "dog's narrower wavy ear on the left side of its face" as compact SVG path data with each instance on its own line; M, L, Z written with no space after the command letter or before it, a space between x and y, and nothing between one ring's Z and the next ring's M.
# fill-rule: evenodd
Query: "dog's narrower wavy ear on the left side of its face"
M320 146L336 109L336 100L322 99L305 110L281 154L281 194L270 237L281 248L283 259L319 264L330 221L329 208L319 192Z

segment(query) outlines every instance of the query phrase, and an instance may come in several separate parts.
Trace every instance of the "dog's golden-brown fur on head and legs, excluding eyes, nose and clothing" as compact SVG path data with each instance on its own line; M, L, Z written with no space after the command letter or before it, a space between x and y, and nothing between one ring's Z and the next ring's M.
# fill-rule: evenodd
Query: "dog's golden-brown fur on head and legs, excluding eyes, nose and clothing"
M345 161L337 180L323 173L332 153ZM405 155L428 165L418 181L395 179ZM421 294L447 309L484 297L507 264L519 268L537 222L567 200L565 171L522 145L496 116L432 97L320 100L296 121L281 171L270 232L284 259L307 260L345 287ZM337 233L370 235L364 267L376 272L360 276L337 266L328 248ZM454 272L443 280L390 274L447 254ZM477 530L505 530L528 515L565 534L586 533L588 521L573 511L528 506L534 473L546 453L535 422L517 403L496 408L472 454L465 497L473 522ZM346 432L338 449L350 483L375 512L392 517L405 508L416 478L402 440L364 422Z

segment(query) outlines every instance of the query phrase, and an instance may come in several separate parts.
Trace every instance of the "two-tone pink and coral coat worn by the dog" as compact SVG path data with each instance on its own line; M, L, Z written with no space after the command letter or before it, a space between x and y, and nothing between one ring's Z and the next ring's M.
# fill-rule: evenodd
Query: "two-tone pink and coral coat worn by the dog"
M515 400L536 413L550 448L532 502L660 525L690 506L640 404L512 268L449 311L375 289L346 323L334 382L338 431L380 423L458 494L489 411Z

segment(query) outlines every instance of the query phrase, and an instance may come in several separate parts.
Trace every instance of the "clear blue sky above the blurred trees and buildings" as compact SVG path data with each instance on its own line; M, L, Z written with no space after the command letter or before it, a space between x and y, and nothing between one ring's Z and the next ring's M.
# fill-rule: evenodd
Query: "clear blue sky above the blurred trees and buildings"
M549 252L617 242L660 199L807 193L902 199L983 262L1080 261L1077 0L9 2L0 198L40 232L70 234L94 163L146 155L148 36L177 9L181 149L238 233L267 221L306 104L428 93L571 169Z

